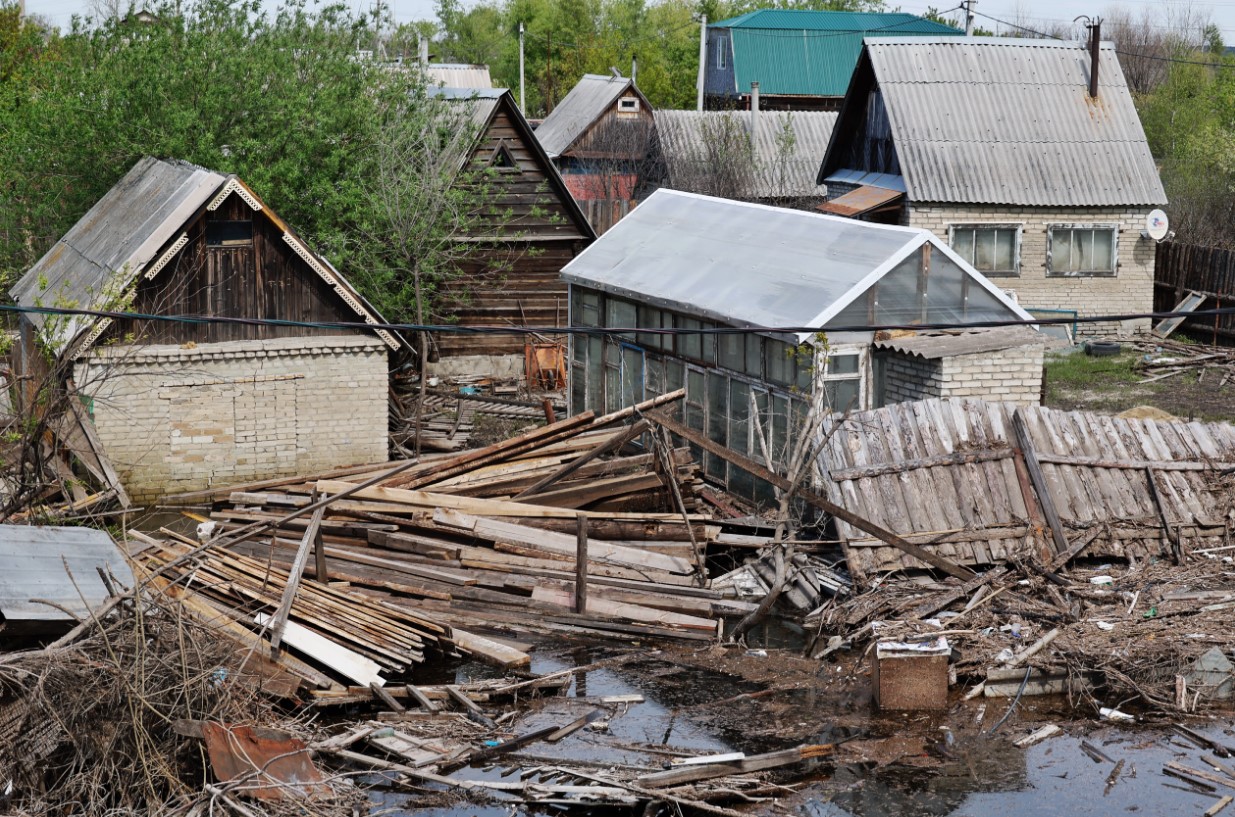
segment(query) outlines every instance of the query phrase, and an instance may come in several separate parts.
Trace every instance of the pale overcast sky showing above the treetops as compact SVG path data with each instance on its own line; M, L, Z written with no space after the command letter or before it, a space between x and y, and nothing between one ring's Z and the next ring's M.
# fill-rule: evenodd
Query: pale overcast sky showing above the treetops
M357 2L357 9L369 9L373 0L352 0ZM274 0L266 0L268 5L274 5ZM433 0L383 0L389 2L394 10L395 20L408 22L411 20L431 19L433 16ZM141 5L138 2L138 5ZM471 5L471 4L466 4ZM921 14L927 6L948 9L960 5L958 0L900 0L889 1L889 7L899 6L902 11ZM1213 0L1212 2L1192 2L1189 0L1121 0L1110 4L1107 0L1089 5L1078 0L978 0L974 10L979 15L989 15L1004 21L1018 22L1024 26L1036 27L1049 26L1052 22L1065 22L1071 25L1079 14L1103 15L1113 6L1118 5L1139 16L1144 10L1157 15L1158 25L1168 25L1166 12L1168 6L1176 9L1189 7L1194 12L1208 14L1210 19L1223 30L1223 38L1228 44L1235 44L1235 0ZM26 9L31 14L43 15L52 23L67 28L74 14L85 14L89 0L26 0ZM957 12L960 14L960 12ZM988 28L998 28L997 23L987 17L979 16L978 22Z

